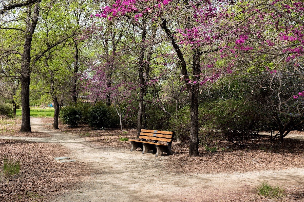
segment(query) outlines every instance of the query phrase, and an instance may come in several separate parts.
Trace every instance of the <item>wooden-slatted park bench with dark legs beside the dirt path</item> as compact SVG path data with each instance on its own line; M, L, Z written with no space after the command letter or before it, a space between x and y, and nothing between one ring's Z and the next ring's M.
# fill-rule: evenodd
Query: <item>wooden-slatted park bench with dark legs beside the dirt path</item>
M130 140L132 146L131 151L137 148L142 149L142 154L146 154L149 150L156 152L156 157L161 156L164 152L172 155L171 143L174 131L153 131L141 129L140 140ZM161 143L159 143L161 142Z

